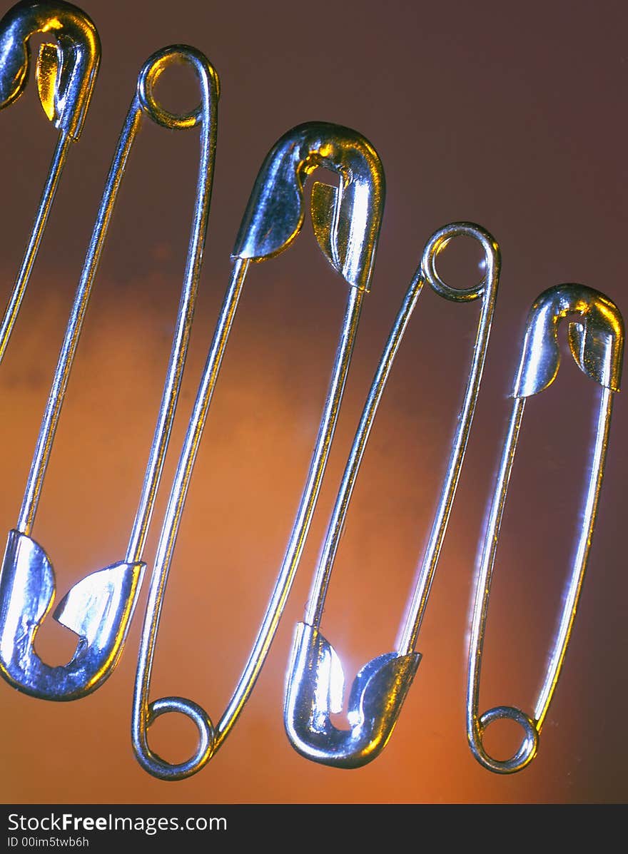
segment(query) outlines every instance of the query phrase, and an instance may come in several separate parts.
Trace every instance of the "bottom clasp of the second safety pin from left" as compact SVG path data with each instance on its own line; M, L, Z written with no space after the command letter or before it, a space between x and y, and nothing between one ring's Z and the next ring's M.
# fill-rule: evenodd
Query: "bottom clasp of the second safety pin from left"
M68 664L50 667L39 658L34 640L55 599L55 574L32 537L9 531L0 573L4 678L39 699L77 699L99 687L120 657L144 565L112 564L69 590L53 616L79 635L79 642Z

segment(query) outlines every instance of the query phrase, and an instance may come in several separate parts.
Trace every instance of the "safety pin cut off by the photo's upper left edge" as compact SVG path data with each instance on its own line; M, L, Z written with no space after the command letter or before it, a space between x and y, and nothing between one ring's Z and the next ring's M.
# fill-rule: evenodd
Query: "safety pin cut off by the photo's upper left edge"
M26 89L29 40L38 32L56 36L56 44L46 42L40 46L35 76L39 101L60 134L26 253L0 325L0 361L20 311L70 143L76 142L83 130L100 63L96 27L81 9L62 0L17 3L0 20L0 109L16 101Z

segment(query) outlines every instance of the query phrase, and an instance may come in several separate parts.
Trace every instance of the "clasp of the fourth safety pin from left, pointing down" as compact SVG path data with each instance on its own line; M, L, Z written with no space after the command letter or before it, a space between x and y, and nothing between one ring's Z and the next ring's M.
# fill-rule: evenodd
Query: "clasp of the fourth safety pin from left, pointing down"
M421 660L420 652L386 652L355 676L349 693L350 729L332 723L342 711L343 666L333 646L308 623L297 623L285 726L291 744L303 757L335 768L360 768L371 762L390 739L403 701Z

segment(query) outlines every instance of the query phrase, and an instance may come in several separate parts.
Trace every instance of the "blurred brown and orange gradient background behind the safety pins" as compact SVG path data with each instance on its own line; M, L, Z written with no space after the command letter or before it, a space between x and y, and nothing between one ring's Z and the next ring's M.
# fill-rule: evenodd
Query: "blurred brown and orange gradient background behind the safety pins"
M7 4L8 7L8 4ZM225 746L190 780L157 781L130 743L138 611L118 670L96 693L45 703L2 691L6 803L625 802L625 435L619 395L594 547L566 666L537 759L502 777L465 734L468 608L476 547L509 413L525 314L544 289L589 284L628 306L625 258L628 52L625 3L120 3L85 0L103 61L84 137L67 162L32 284L0 370L5 529L21 495L103 179L147 56L193 44L220 74L212 213L197 316L160 500L169 479L261 160L307 120L354 127L379 151L386 210L319 509L267 664ZM167 106L197 99L189 70L164 75ZM56 132L36 90L0 117L5 297ZM34 535L58 594L122 559L137 506L179 300L197 132L149 121L132 153L69 385ZM362 403L431 232L455 219L502 247L500 295L477 417L418 648L424 658L384 753L354 771L308 763L282 722L285 666ZM469 284L474 255L443 271ZM468 249L468 248L467 248ZM457 256L457 257L456 257ZM453 272L452 272L453 271ZM464 273L464 274L463 274ZM253 267L203 437L161 621L152 698L181 694L217 720L283 557L320 418L345 285L308 222L294 247ZM324 629L350 683L394 644L431 524L478 319L426 291L399 353L337 559ZM564 346L564 342L563 342ZM625 394L625 393L624 393ZM566 358L526 408L490 606L482 706L531 710L572 556L596 386ZM50 617L38 651L73 639ZM494 725L505 756L519 731ZM151 743L191 751L169 716Z

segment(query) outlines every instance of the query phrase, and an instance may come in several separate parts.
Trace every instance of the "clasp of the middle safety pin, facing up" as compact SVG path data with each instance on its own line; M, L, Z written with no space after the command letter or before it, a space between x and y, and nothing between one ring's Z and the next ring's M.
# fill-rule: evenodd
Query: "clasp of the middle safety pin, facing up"
M345 281L368 290L384 209L384 169L373 146L343 126L308 122L275 143L255 180L232 257L265 260L291 245L305 219L303 185L316 167L337 173L339 186L314 184L314 235Z

